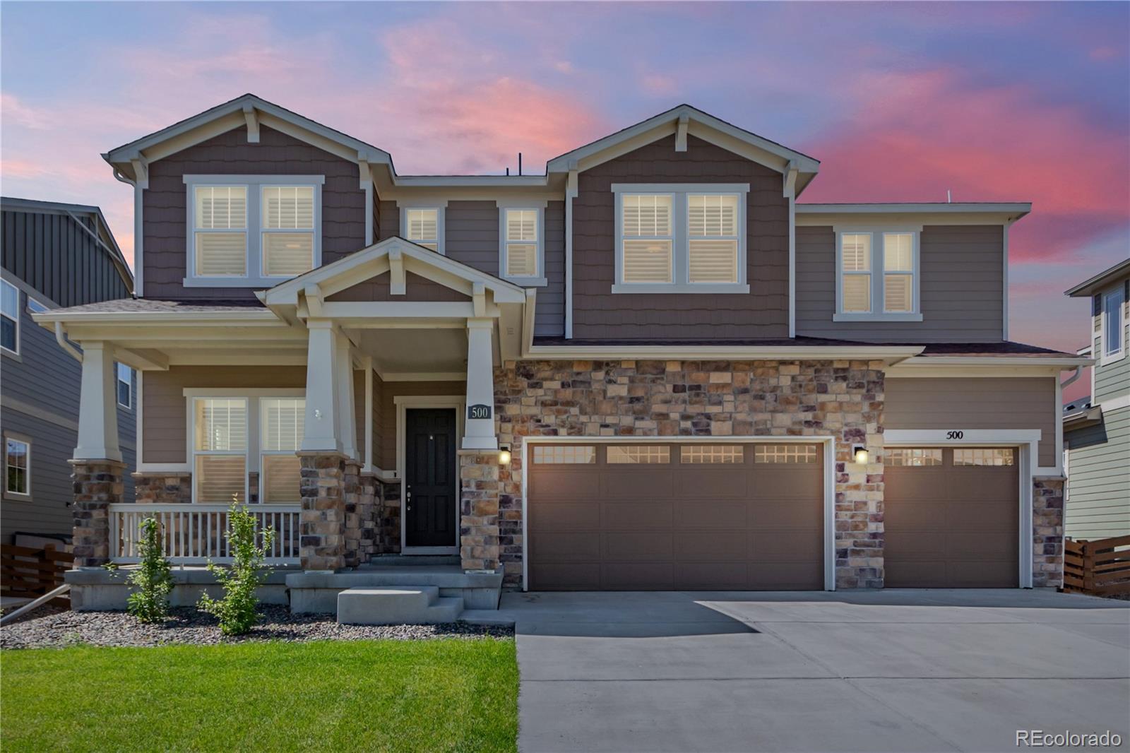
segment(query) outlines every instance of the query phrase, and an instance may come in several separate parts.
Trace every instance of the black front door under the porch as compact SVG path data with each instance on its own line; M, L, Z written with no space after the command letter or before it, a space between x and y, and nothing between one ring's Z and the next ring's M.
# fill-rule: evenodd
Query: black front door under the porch
M405 546L454 547L455 410L405 412Z

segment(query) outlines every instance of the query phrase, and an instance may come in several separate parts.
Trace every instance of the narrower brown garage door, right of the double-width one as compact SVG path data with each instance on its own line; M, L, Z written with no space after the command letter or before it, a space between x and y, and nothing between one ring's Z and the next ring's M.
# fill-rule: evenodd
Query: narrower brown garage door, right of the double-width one
M888 448L890 588L1015 588L1019 477L1012 448Z

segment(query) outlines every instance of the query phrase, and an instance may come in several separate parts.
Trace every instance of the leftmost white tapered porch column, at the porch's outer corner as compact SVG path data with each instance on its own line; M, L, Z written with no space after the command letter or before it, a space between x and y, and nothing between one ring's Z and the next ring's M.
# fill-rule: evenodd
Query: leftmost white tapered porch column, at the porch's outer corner
M82 381L79 392L76 460L121 460L118 445L118 396L114 348L101 340L84 340Z

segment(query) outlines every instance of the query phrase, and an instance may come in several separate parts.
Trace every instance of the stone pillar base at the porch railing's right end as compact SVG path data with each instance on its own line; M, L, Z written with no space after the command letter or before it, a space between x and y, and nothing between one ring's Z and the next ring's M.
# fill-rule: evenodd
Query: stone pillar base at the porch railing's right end
M303 570L338 570L346 564L346 465L339 453L299 452ZM356 465L351 465L356 469Z

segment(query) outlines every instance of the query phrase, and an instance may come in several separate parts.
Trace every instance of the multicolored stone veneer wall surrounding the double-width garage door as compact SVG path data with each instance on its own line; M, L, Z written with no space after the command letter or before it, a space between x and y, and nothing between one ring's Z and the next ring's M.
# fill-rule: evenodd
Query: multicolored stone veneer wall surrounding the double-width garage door
M525 436L831 435L836 585L883 586L880 361L507 362L495 372L495 403L498 441L512 445L513 460L498 473L493 456L463 457L464 566L489 563L496 528L505 582L521 582ZM850 462L853 444L867 447L869 465ZM477 499L489 499L490 483L497 517L488 505L483 514L469 510Z

